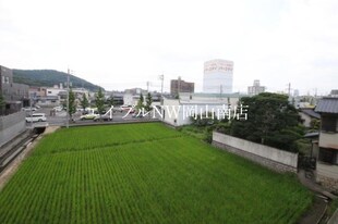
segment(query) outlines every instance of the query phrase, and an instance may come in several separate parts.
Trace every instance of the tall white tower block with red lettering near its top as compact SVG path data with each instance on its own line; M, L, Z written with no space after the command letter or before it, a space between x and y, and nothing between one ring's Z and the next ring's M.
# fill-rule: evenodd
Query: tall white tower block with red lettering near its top
M216 59L204 63L203 92L231 94L233 62Z

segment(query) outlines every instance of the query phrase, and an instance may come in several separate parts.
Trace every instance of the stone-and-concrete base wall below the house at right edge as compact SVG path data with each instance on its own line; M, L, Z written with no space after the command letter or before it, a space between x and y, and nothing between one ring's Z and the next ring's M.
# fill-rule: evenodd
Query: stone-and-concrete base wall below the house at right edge
M338 165L317 162L316 181L329 191L338 194Z

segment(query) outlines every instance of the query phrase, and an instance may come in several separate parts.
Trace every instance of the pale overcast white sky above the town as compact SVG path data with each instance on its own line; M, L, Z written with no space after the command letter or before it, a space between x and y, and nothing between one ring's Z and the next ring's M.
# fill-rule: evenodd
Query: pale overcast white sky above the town
M72 71L107 90L202 91L204 62L233 61L233 90L338 89L336 0L0 0L0 64Z

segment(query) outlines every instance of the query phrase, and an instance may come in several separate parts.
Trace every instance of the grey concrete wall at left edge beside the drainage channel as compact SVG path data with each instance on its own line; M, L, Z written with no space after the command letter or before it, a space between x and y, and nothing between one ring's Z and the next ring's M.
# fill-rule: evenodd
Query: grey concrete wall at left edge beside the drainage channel
M0 147L26 129L24 111L0 116Z

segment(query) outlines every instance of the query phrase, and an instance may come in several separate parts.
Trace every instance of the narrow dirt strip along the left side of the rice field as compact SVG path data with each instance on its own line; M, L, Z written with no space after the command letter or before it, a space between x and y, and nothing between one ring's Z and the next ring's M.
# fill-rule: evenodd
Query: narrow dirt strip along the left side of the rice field
M4 187L8 181L13 176L13 174L17 171L19 166L21 165L22 161L29 155L33 151L35 146L39 142L39 140L48 134L56 132L59 126L48 126L43 135L36 138L32 144L29 144L12 162L11 164L3 170L0 175L0 190Z

